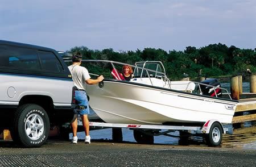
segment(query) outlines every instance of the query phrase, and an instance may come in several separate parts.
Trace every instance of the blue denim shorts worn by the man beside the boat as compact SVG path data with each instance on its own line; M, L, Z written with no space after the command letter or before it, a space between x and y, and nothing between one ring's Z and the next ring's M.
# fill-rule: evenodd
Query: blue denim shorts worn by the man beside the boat
M86 92L81 90L76 90L75 99L76 99L76 105L79 105L79 108L77 108L75 112L77 112L77 114L80 114L80 115L90 114L89 103L88 103Z

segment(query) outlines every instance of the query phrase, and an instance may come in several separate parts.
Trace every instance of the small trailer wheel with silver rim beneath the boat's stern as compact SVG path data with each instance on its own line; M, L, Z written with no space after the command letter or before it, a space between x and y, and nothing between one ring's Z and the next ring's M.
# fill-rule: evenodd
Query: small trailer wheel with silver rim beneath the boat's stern
M205 136L205 140L207 141L207 145L216 147L221 144L222 141L222 127L220 123L214 122L212 127L210 127L209 134Z

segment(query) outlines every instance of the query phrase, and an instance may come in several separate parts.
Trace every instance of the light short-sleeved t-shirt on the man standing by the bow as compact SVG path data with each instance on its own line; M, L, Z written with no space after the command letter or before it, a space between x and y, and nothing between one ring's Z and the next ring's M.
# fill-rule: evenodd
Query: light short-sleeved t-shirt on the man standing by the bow
M86 90L86 80L90 79L88 70L80 65L69 65L68 69L72 74L74 85L77 89Z

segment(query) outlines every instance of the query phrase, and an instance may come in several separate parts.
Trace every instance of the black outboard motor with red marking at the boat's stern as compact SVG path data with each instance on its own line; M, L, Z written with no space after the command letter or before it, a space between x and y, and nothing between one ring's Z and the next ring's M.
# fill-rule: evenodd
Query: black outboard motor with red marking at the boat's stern
M204 84L212 85L212 86L216 86L216 87L220 87L221 86L220 82L218 82L218 80L216 78L208 78L207 80L204 80L204 81L202 81L200 83L204 83ZM204 95L209 95L211 97L216 97L216 94L217 94L217 97L221 97L221 95L222 95L221 89L217 88L214 91L214 87L212 87L212 86L200 85L202 93Z

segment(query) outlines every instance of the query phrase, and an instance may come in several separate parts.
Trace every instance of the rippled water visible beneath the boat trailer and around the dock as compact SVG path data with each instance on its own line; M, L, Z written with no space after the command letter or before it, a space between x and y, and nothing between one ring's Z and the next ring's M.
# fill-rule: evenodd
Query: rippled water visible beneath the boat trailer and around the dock
M229 83L221 83L221 87L224 87L230 91ZM243 92L249 92L250 86L249 82L243 82ZM229 125L232 126L232 125ZM136 142L133 137L133 131L127 128L122 128L123 141ZM178 136L179 132L171 132L170 135ZM85 139L84 132L79 132L79 139ZM112 129L94 130L90 131L90 136L92 140L105 139L106 141L112 140ZM70 135L70 137L72 137ZM178 145L179 137L169 137L169 136L154 136L155 144L170 144ZM189 143L200 145L205 144L202 137L190 137ZM227 148L242 148L242 149L255 149L256 150L256 121L245 122L242 124L241 128L233 128L233 135L224 135L222 139L222 147Z

